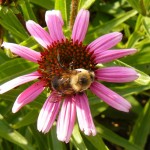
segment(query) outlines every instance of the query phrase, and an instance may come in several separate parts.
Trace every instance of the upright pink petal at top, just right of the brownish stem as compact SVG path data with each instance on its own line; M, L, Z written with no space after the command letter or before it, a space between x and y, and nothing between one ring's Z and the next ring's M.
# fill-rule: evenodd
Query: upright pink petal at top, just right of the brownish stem
M81 9L76 17L73 31L72 31L72 39L73 41L83 42L88 25L89 25L90 14L88 10Z

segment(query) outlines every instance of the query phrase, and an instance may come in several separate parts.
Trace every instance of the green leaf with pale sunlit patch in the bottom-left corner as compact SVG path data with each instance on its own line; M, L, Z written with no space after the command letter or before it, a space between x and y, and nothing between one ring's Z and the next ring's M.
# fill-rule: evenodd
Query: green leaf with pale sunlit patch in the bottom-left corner
M2 115L0 115L0 136L14 144L17 144L24 150L34 150L25 137L8 125Z

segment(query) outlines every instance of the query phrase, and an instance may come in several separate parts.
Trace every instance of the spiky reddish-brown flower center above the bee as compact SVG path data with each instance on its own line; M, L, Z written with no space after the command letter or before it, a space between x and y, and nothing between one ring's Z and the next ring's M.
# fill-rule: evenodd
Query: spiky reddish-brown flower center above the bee
M40 79L45 82L46 87L52 90L52 78L67 72L67 70L83 68L94 71L95 64L91 56L92 54L82 43L73 43L68 39L62 42L53 42L41 52L41 60L38 61L38 72L42 75Z

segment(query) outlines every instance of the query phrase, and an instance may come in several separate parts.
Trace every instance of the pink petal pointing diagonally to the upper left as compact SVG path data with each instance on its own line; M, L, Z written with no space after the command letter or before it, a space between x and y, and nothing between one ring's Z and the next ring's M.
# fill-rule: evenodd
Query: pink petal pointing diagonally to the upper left
M34 39L44 48L51 45L52 39L50 35L39 24L29 20L26 22L26 27Z

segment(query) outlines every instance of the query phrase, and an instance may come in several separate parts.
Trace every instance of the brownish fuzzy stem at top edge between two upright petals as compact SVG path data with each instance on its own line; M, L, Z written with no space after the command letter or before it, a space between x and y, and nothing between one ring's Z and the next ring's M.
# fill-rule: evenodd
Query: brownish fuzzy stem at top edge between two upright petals
M72 0L71 1L71 12L70 12L70 21L69 21L69 27L72 30L73 28L73 24L78 12L78 4L79 4L79 0Z

